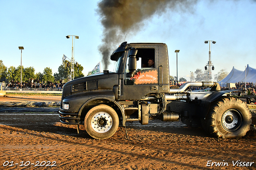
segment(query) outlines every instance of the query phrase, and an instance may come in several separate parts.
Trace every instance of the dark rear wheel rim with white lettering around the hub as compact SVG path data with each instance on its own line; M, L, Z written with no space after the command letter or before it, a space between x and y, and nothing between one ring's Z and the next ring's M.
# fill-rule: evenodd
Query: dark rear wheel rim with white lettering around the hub
M242 126L242 113L235 109L229 109L222 115L221 123L228 131L238 130Z

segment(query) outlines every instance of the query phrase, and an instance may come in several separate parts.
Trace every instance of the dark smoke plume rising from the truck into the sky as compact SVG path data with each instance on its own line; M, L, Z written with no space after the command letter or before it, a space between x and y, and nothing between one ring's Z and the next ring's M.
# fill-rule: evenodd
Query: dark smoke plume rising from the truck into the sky
M104 70L110 64L110 54L126 34L136 34L144 26L143 21L154 14L161 15L166 10L182 10L194 6L197 0L102 0L96 12L100 15L103 30L102 53ZM177 8L179 7L179 8Z

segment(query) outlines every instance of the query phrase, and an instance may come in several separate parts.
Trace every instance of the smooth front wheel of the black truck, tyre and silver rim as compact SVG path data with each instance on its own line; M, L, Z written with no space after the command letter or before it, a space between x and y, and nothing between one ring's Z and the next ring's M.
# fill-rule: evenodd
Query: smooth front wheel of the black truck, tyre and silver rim
M96 139L110 138L118 129L118 125L118 115L108 105L93 107L84 118L86 132Z

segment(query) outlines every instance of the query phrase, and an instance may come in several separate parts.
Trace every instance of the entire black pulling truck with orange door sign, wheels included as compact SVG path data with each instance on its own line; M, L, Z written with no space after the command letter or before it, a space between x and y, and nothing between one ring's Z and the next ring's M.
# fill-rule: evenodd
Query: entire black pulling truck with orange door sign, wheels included
M58 111L62 123L78 129L84 124L96 139L109 138L126 122L146 125L153 119L202 126L218 138L239 138L250 130L250 110L230 95L232 90L220 91L220 85L210 81L170 88L166 44L123 42L110 59L115 61L113 72L105 70L64 85Z

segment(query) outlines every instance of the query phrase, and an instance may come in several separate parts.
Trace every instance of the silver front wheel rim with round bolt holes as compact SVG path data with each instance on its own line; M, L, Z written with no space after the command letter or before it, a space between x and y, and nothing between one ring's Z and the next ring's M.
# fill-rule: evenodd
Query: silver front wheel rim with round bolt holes
M92 117L91 126L98 133L104 133L112 127L112 117L106 112L98 112Z

